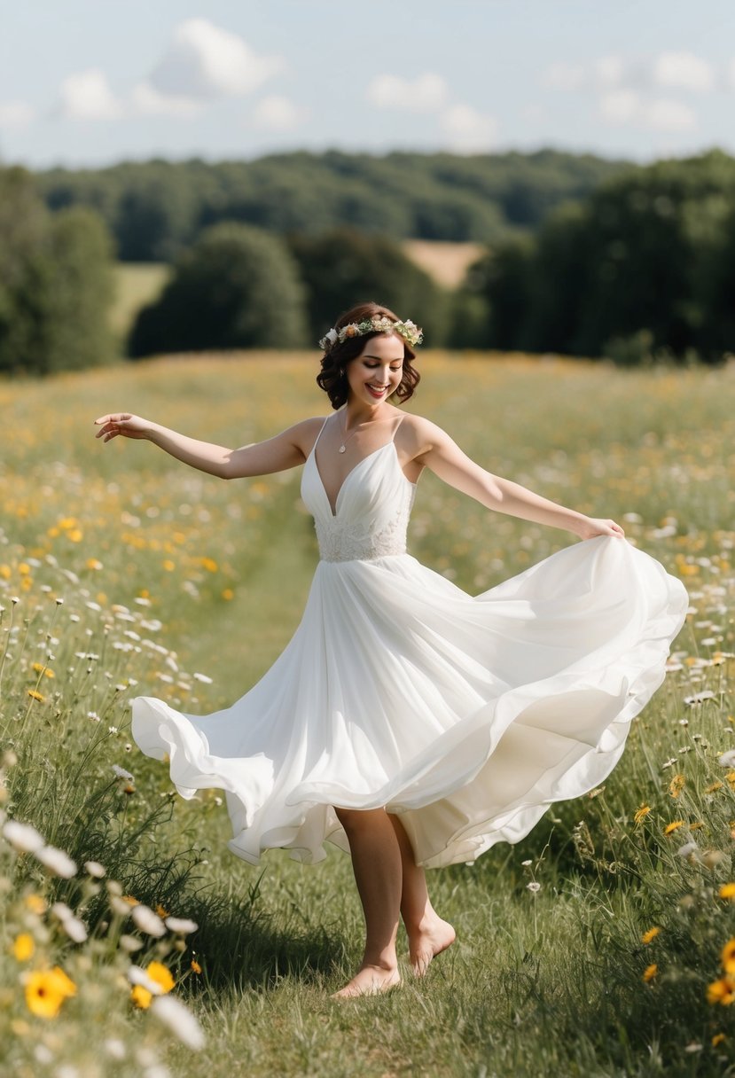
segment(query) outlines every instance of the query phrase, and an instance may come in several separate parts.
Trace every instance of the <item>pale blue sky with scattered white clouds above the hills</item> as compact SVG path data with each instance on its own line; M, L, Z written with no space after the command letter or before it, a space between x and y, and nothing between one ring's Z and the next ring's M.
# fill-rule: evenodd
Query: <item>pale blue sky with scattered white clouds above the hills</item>
M0 0L0 162L735 153L735 0Z

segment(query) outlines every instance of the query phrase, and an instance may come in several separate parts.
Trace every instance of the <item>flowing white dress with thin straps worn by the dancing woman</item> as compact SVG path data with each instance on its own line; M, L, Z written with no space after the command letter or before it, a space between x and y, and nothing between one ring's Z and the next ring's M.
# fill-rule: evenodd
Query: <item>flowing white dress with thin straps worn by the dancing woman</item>
M318 439L317 439L318 441ZM213 715L133 702L133 736L183 797L225 790L231 849L348 849L334 805L400 813L426 867L517 842L597 786L664 678L683 585L624 539L563 550L472 597L405 552L415 487L391 440L333 513L311 450L321 561L280 658Z

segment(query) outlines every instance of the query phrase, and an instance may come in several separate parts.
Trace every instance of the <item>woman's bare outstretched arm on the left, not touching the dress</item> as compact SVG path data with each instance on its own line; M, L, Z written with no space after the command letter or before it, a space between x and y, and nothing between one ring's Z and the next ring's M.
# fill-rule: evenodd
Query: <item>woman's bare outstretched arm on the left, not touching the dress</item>
M228 450L224 445L188 438L130 412L114 412L95 419L95 425L100 428L95 437L106 442L117 437L144 439L199 471L220 479L240 479L267 475L303 465L322 421L304 419L265 442Z

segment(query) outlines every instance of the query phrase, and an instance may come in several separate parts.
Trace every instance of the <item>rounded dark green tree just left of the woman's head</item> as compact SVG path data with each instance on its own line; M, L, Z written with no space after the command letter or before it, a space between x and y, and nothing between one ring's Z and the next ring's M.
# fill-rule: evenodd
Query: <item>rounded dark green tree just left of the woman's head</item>
M304 289L285 245L259 229L222 223L179 258L161 298L138 315L128 353L307 343Z

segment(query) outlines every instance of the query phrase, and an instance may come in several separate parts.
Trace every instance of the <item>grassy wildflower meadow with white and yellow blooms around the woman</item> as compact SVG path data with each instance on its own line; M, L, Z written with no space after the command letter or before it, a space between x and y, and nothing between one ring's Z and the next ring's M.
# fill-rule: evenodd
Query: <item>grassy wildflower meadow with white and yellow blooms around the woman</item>
M4 382L0 811L46 845L0 839L0 1073L735 1074L735 371L420 362L416 407L472 456L618 517L689 588L623 761L517 846L431 874L458 942L426 979L331 1000L361 945L349 859L237 860L217 792L174 797L129 735L129 697L216 710L289 639L316 559L300 476L226 484L92 426L130 409L244 444L324 414L313 357ZM421 479L412 552L468 591L572 541Z

